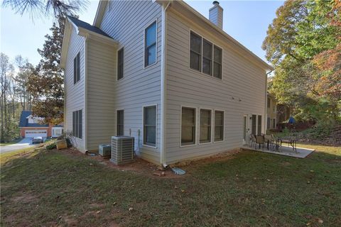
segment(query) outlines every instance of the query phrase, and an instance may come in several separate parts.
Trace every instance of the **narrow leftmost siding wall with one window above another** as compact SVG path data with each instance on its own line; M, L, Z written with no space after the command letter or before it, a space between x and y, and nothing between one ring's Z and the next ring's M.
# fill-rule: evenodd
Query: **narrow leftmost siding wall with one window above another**
M70 45L65 62L65 132L72 131L72 111L82 109L82 139L75 138L75 146L85 153L85 39L71 28ZM80 52L80 81L73 84L73 60Z

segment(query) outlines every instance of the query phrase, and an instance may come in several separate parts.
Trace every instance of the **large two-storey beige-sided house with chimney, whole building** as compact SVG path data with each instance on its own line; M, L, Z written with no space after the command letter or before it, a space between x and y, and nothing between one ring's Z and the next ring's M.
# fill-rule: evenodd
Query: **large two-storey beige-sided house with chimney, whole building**
M222 13L217 2L208 20L184 1L99 1L92 26L67 18L60 66L77 149L131 135L142 158L168 165L265 133L272 69L222 31Z

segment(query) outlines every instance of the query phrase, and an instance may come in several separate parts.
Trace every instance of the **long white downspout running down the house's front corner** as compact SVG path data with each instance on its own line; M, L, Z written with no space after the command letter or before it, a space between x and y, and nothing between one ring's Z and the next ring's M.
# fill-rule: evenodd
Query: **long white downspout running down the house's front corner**
M161 40L161 150L160 162L167 167L166 162L166 47L167 47L167 9L171 2L162 4L162 40Z

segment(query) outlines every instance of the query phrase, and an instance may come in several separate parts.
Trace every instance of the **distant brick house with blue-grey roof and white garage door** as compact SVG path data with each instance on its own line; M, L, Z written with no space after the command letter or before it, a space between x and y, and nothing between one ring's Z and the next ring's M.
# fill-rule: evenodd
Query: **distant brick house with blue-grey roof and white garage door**
M32 111L22 111L19 122L21 137L58 137L63 134L63 126L42 124L42 120L43 118L33 116Z

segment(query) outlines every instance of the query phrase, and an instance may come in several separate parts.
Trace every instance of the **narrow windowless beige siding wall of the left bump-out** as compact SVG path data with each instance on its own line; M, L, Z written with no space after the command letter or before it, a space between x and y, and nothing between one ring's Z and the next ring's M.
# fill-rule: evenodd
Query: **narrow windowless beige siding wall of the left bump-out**
M116 51L112 45L87 40L87 150L98 150L116 135Z

